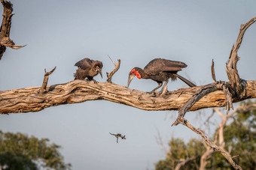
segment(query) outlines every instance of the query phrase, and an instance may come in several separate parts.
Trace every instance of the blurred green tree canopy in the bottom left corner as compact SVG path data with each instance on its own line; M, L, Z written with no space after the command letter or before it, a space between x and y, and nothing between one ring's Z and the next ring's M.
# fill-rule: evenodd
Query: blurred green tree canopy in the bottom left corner
M23 133L0 130L0 168L2 169L70 169L59 153L59 145L49 139L37 139Z

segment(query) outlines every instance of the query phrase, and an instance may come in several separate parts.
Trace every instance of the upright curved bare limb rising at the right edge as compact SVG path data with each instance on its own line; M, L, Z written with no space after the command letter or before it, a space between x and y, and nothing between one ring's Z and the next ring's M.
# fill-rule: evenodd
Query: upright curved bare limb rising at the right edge
M239 61L237 52L242 43L242 37L245 34L246 29L255 21L256 21L256 16L251 20L249 20L244 25L243 24L241 25L239 35L236 40L236 44L233 45L230 51L229 60L226 64L227 77L230 80L232 87L235 89L237 97L243 97L245 95L245 83L243 83L244 81L240 79L238 70L236 69L236 63L237 61Z

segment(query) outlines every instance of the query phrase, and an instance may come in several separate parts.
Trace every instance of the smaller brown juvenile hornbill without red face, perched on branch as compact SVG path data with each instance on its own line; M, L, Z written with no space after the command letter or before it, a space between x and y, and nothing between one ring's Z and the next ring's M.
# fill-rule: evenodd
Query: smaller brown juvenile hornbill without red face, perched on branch
M102 76L102 67L103 64L101 61L90 60L89 58L84 58L81 61L78 61L75 66L78 67L77 72L74 74L75 79L85 79L96 80L93 79L93 76L96 76L98 73Z

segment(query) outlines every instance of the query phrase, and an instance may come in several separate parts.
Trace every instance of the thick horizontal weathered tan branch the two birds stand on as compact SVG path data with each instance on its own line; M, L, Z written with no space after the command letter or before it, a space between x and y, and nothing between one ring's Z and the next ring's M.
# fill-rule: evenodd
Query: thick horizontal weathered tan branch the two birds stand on
M234 99L239 102L256 98L256 81L248 81L247 96ZM206 85L207 86L207 85ZM143 110L179 110L202 86L181 88L169 91L165 96L154 97L151 94L111 83L94 84L85 80L74 80L66 84L47 85L47 93L38 94L41 87L20 88L0 91L0 113L38 112L50 106L67 103L81 103L88 100L108 100ZM201 98L189 110L225 106L223 91L215 91Z

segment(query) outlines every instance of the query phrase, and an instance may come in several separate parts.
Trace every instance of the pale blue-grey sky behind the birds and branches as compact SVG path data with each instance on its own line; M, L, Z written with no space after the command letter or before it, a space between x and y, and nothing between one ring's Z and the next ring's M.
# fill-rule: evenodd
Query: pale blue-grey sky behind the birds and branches
M183 61L181 76L197 85L227 80L225 62L240 24L256 16L256 1L29 1L13 0L11 39L23 49L7 49L0 61L0 90L40 86L44 68L55 72L48 84L72 81L76 61L88 57L113 69L108 59L121 60L113 82L126 85L132 67L145 67L153 58ZM2 13L2 7L1 7ZM245 32L238 63L242 79L255 79L256 25ZM130 88L151 91L157 83L134 79ZM177 80L169 91L187 87ZM167 119L166 119L166 114ZM174 115L174 116L171 116ZM195 136L185 127L170 127L177 112L147 112L108 101L56 106L41 112L1 115L0 130L48 138L62 145L73 169L154 169L164 152L155 140L157 130L168 142L172 136ZM195 120L197 112L186 117ZM126 140L115 142L111 133Z

